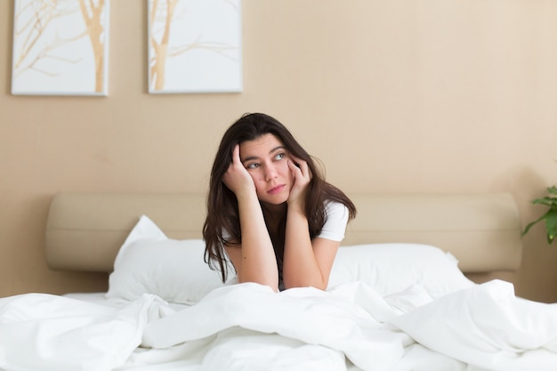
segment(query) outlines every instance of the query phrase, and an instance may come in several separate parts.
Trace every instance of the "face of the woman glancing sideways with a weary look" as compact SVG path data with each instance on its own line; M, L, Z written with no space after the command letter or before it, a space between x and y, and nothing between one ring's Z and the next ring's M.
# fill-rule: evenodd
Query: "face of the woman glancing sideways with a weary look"
M290 156L282 141L264 134L254 141L240 143L240 160L252 176L260 201L279 205L287 201L294 185L288 167Z

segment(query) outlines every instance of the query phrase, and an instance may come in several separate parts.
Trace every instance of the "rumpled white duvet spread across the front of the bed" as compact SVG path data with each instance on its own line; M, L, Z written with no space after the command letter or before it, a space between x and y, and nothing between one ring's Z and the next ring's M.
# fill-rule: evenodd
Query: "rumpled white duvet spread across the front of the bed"
M436 300L354 282L275 294L215 289L176 311L49 294L0 299L0 368L29 370L557 370L557 304L491 281Z

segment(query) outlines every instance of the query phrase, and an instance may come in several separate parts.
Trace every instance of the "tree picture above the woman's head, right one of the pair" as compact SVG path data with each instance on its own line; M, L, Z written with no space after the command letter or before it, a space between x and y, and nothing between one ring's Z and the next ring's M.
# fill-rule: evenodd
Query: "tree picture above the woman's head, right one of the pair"
M242 91L240 0L148 0L149 93Z

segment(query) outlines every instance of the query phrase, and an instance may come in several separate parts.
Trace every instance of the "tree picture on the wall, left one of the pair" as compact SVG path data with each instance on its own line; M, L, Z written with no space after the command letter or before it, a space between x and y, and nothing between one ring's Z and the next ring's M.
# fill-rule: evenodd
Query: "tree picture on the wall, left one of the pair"
M12 94L107 95L109 0L15 0Z

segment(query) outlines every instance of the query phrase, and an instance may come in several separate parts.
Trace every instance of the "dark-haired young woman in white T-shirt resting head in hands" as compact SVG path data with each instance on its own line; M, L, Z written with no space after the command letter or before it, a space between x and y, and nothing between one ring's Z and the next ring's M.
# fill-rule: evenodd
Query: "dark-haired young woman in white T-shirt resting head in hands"
M203 227L206 262L275 291L326 289L351 200L325 181L287 128L262 113L240 117L214 159Z

